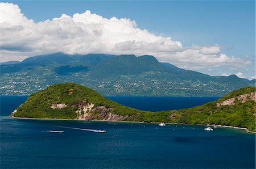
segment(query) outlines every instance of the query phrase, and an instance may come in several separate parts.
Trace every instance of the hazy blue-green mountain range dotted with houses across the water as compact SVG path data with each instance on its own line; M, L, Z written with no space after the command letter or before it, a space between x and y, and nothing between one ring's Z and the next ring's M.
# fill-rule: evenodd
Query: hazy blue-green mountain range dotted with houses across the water
M1 95L28 95L74 82L108 96L224 96L255 81L212 77L160 63L154 56L52 53L0 65Z

